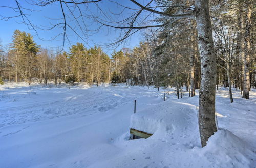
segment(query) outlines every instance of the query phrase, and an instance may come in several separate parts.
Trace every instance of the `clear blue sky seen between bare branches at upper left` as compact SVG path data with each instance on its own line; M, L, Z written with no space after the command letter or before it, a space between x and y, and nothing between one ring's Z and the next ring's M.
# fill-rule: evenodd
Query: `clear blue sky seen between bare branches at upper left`
M28 0L28 2L32 2L31 0ZM40 10L40 11L27 11L27 10L23 10L24 13L27 13L27 17L29 18L29 20L32 22L32 24L39 26L39 27L43 27L43 26L50 26L51 24L56 24L58 22L61 22L61 20L57 20L58 18L62 17L62 12L61 12L61 8L60 8L60 3L56 2L52 5L48 5L46 7L38 7L36 5L31 5L26 3L26 1L24 0L19 0L20 5L22 5L22 7L24 8L29 8L29 9L33 9L33 10ZM131 4L129 1L122 1L123 5L128 5L130 7L136 7L136 5ZM116 20L120 20L123 17L129 16L131 13L129 13L129 11L124 11L122 13L122 15L113 15L110 13L111 12L115 12L116 14L119 13L122 8L120 6L118 6L117 4L111 3L110 1L106 1L103 0L103 2L100 2L98 4L101 9L104 11L104 13L108 16L106 17L115 17L114 19ZM17 7L17 4L15 2L15 0L7 0L7 1L1 1L0 2L0 6L9 6L9 7ZM84 14L91 14L93 13L95 16L102 16L103 14L100 13L99 8L95 5L95 4L90 4L90 5L84 5L81 6L81 10L86 11ZM136 7L138 8L138 7ZM0 8L0 15L1 16L15 16L18 14L18 12L15 12L14 10L10 9L10 8ZM64 10L66 11L67 15L67 22L70 25L75 25L76 29L78 27L78 25L76 24L75 21L72 21L69 17L71 17L71 15L69 14L68 8L64 7ZM76 10L77 11L77 10ZM77 12L74 12L74 14L78 14ZM55 19L55 20L54 20ZM93 20L91 18L86 19L86 27L87 29L93 30L96 29L99 25L95 22L93 22ZM56 27L55 29L51 30L51 31L45 31L45 30L40 30L37 29L38 31L38 35L40 36L40 38L44 39L41 40L39 39L36 35L35 35L35 31L34 30L30 30L28 29L28 27L22 23L22 17L16 17L16 18L11 18L8 21L6 21L5 19L0 20L0 27L1 27L1 31L0 31L0 39L1 39L1 44L2 45L6 45L12 42L12 35L14 30L19 29L21 31L25 31L28 33L31 33L34 36L34 40L38 45L41 45L42 47L62 47L62 36L58 37L55 40L51 40L53 37L55 37L56 35L58 35L63 29L62 28L58 28ZM80 24L81 20L79 20ZM84 28L84 27L82 27ZM77 29L78 30L78 29ZM119 30L118 30L119 31ZM118 37L118 31L115 31L113 29L108 29L107 27L103 27L99 32L97 33L92 33L89 32L91 35L89 36L88 39L84 39L84 41L88 41L88 44L86 44L86 47L92 47L95 44L101 44L101 43L111 43L111 41L115 41L115 39ZM81 32L78 31L79 34L81 34ZM69 40L71 42L71 44L75 44L76 42L83 42L81 39L78 38L78 36L73 33L70 29L67 32ZM142 38L139 35L139 32L134 34L133 36L131 36L131 38L129 38L128 40L126 40L125 44L122 44L121 46L119 46L118 48L116 48L116 50L121 49L122 47L130 47L133 48L134 46L139 44L139 41L141 41ZM84 42L83 42L84 43ZM65 43L65 47L64 49L66 51L68 51L68 48L70 47L70 44L68 43L68 41L66 40ZM114 48L103 48L103 50L108 53L110 55L110 53L113 52Z

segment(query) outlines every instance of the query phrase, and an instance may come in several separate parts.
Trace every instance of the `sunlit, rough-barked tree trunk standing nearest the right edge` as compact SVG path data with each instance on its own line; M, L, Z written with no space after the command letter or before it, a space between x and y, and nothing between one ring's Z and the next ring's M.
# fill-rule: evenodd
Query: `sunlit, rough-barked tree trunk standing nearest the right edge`
M244 93L243 98L249 99L250 93L250 27L251 27L251 6L248 5L245 30L246 53L244 60Z

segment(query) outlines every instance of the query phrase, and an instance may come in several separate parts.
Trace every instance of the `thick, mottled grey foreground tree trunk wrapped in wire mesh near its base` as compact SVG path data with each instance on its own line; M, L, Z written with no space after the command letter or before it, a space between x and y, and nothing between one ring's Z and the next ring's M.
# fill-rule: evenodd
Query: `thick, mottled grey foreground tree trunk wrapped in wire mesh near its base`
M208 0L196 0L198 45L201 57L201 86L199 92L199 131L202 147L217 132L215 122L216 58Z

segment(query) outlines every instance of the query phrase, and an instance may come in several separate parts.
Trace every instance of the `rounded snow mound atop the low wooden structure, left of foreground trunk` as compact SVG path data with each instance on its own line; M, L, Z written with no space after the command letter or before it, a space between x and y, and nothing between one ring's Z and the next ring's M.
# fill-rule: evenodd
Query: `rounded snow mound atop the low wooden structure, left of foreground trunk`
M174 101L161 102L132 115L131 128L161 136L166 133L179 135L181 132L188 135L198 130L196 106Z

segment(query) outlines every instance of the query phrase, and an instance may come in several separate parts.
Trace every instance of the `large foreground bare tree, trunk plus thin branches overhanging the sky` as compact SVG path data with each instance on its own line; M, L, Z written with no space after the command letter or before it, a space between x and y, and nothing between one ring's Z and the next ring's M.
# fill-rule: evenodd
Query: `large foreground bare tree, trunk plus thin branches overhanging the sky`
M199 129L200 129L200 136L201 136L201 142L202 146L206 145L206 142L208 138L214 134L214 132L217 131L217 127L215 124L215 83L216 83L216 60L215 60L215 52L214 52L214 45L212 41L212 30L211 30L211 20L210 20L210 14L209 14L209 1L208 0L195 0L195 7L193 6L185 6L185 5L177 5L172 4L172 2L169 1L163 1L163 4L160 5L159 2L155 2L153 0L149 1L147 4L143 5L138 3L135 0L130 0L131 3L136 5L138 8L130 8L127 6L124 6L119 3L119 1L115 1L114 3L119 5L120 7L123 7L124 10L132 10L134 11L131 16L124 18L121 21L113 21L109 19L108 15L106 15L98 5L98 3L101 2L101 0L98 1L37 1L37 5L40 6L46 6L52 3L59 3L60 10L62 12L62 22L57 23L53 25L53 27L62 26L63 32L61 33L63 36L63 42L65 41L65 37L67 37L67 29L70 29L74 33L77 34L78 37L81 38L81 36L77 33L75 30L75 26L72 26L67 22L67 14L66 11L71 12L70 10L71 5L73 5L73 8L78 9L78 13L80 13L80 17L84 18L84 14L81 13L79 5L89 4L92 3L93 5L96 5L101 13L100 15L104 18L99 18L98 16L91 15L91 17L96 21L100 26L99 29L102 26L107 26L114 29L120 30L120 38L119 40L116 40L114 44L118 44L120 42L123 42L123 40L129 38L132 34L138 32L141 29L147 29L147 28L157 28L157 27L164 27L170 25L174 20L177 19L183 19L183 18L190 18L195 19L197 23L197 31L198 31L198 44L199 44L199 53L201 57L201 74L202 74L202 80L201 80L201 88L200 88L200 94L199 94ZM20 7L20 4L18 3L18 0L16 0L17 8L19 10L20 17L22 17L23 21L29 25L34 27L27 18L26 15L23 13L23 9ZM63 6L66 6L64 8ZM168 10L168 8L177 8L177 12L172 13ZM143 13L144 12L144 13ZM165 22L163 24L155 24L156 22L153 22L152 24L148 24L149 21L147 20L148 17L158 15L165 18ZM71 12L71 17L75 21L77 21L78 27L80 27L80 31L83 32L86 35L86 30L81 28L81 24L78 21L78 17L74 15L74 13ZM83 22L84 23L84 22ZM53 29L51 27L50 29ZM86 27L84 27L86 28ZM99 31L99 29L95 30L96 32ZM84 40L83 38L81 38ZM97 82L98 82L98 76L97 76Z

